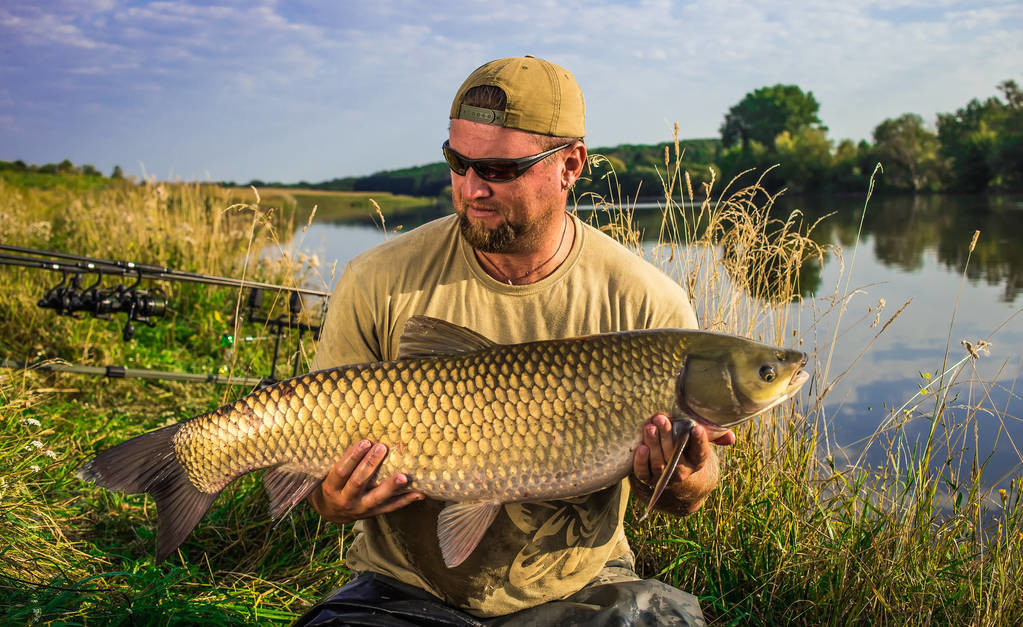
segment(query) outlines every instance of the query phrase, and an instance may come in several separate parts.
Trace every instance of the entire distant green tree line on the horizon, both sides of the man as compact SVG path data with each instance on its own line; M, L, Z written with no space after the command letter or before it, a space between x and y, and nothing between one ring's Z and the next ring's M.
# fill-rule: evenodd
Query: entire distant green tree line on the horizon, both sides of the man
M997 86L1002 97L973 99L952 114L939 114L932 130L917 114L885 120L873 142L828 136L817 117L813 92L796 85L762 87L728 109L719 138L685 139L681 167L696 193L713 176L721 181L752 170L768 189L862 192L875 166L884 173L879 190L986 191L1023 189L1023 92L1016 81ZM666 152L667 151L667 152ZM659 196L674 169L672 144L623 144L590 148L605 159L576 191L611 191L627 197ZM666 162L667 159L667 162ZM612 176L613 171L613 176ZM251 181L266 186L263 181ZM279 185L271 183L270 185ZM436 196L447 193L450 177L443 162L337 178L294 187L343 191L390 191Z

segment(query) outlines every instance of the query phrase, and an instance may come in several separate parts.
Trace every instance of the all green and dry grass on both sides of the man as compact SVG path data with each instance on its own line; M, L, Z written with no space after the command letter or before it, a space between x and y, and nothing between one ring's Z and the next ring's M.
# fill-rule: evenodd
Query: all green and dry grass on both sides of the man
M840 252L816 249L805 237L812 225L798 216L772 215L773 198L756 184L693 190L684 176L670 176L681 172L672 154L664 170L662 245L651 261L681 277L705 326L801 343L815 372L805 404L741 429L722 458L721 485L701 511L641 524L630 517L627 532L642 573L694 591L708 618L722 624L1018 621L1019 480L1004 493L979 488L983 462L961 436L978 412L997 408L980 394L963 402L950 393L970 375L973 358L949 355L955 367L892 412L870 444L889 453L887 463L866 466L832 452L819 401L839 376L829 370L830 347L839 328L855 323L843 319L848 287L818 299L825 305L789 302L798 294L802 261ZM628 205L609 181L601 223L638 251ZM272 193L260 190L257 204L251 190L187 184L82 189L0 180L0 241L301 280L298 260L258 261L264 244L286 240L303 223L287 209L273 210L286 201ZM286 193L296 203L326 195ZM698 201L696 212L678 211L682 200L702 197L709 199ZM842 254L851 265L854 251ZM268 343L228 350L218 342L224 332L262 334L231 324L243 298L234 290L163 285L172 311L124 343L118 320L69 320L37 308L58 279L0 268L0 356L192 372L268 370ZM793 338L794 316L803 315L821 320L817 331ZM880 332L893 315L880 321ZM313 349L307 343L297 350L307 359ZM75 478L97 449L244 391L0 370L0 622L285 623L342 583L349 529L322 524L305 506L273 526L256 479L228 488L180 554L153 566L151 501ZM918 421L930 426L930 436L905 454L903 429ZM943 459L948 463L936 472L935 460Z

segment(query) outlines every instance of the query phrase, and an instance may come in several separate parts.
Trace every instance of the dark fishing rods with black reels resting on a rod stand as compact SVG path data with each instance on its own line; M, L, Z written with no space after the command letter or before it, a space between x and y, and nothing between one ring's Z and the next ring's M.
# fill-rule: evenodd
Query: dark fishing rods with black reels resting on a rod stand
M0 243L0 265L19 266L36 268L61 273L60 282L49 288L38 301L37 305L44 309L52 309L57 315L79 318L78 314L88 313L96 318L112 319L112 314L124 313L127 317L122 329L122 339L125 342L131 341L135 334L136 322L146 326L155 326L155 319L162 318L168 309L166 294L160 287L140 288L142 279L183 281L203 283L222 287L250 288L248 306L246 308L249 322L260 323L269 327L274 340L273 361L270 375L262 378L254 377L233 377L243 383L231 385L267 385L276 380L277 361L280 354L281 339L293 330L299 333L298 342L301 345L306 332L311 332L314 339L319 339L320 325L309 324L301 320L302 312L305 308L303 296L312 296L323 299L320 306L320 318L326 309L326 299L329 293L308 287L293 287L277 285L263 281L253 281L237 279L212 274L201 274L196 272L185 272L163 266L151 264L140 264L131 261L121 261L112 259L100 259L87 257L84 255L72 255L58 253L55 251L43 251L25 247L14 247ZM83 286L83 277L95 275L95 280ZM134 279L131 284L118 284L114 286L101 285L104 276L130 277ZM288 307L286 314L276 317L260 315L260 308L263 304L263 292L272 289L275 292L288 293ZM239 316L240 318L240 316ZM236 318L234 323L241 320ZM232 349L234 337L224 333L221 337L221 346ZM233 349L232 349L233 350ZM300 351L296 351L293 376L298 374L300 365ZM3 367L27 367L23 362L4 361ZM29 364L33 365L33 364ZM214 375L174 373L160 370L138 370L124 368L122 366L66 366L50 367L46 364L34 364L41 369L78 372L85 374L103 374L106 376L136 376L142 378L169 378L172 380L192 380L207 383L230 383L220 380L224 377ZM110 374L113 372L113 374ZM148 374L143 374L143 373ZM124 373L124 374L120 374ZM211 378L211 376L213 378ZM256 383L254 383L256 382Z

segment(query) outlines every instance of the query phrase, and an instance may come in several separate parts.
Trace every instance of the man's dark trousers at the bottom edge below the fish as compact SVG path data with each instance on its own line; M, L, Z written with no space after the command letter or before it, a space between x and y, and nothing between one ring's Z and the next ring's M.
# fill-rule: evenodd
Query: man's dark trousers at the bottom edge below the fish
M561 600L507 616L477 618L419 588L364 573L313 606L296 625L502 627L517 625L706 625L696 596L656 579L639 579L622 559Z

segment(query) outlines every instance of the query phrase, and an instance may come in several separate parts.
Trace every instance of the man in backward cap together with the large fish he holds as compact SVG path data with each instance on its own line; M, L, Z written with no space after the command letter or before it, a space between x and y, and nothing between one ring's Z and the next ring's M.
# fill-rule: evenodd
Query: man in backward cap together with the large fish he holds
M564 69L474 72L442 148L455 214L349 264L316 369L78 477L155 501L157 563L256 471L275 519L308 498L358 521L355 577L301 625L702 624L696 597L637 577L629 493L698 509L711 441L792 398L806 355L688 328L677 283L569 214L583 134Z

